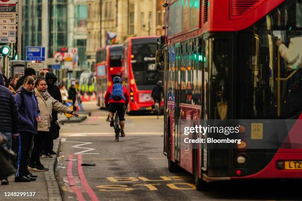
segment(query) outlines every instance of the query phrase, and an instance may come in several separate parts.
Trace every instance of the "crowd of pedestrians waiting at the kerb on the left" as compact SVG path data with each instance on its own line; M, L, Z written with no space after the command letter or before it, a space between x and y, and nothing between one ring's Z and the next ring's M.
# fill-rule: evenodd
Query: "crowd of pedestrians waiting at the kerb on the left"
M59 137L60 129L57 112L78 117L62 104L56 81L52 72L41 71L36 78L33 68L26 68L24 76L14 75L10 79L0 73L0 163L5 160L1 152L14 153L15 182L37 180L37 175L30 170L48 170L41 164L40 157L56 154L53 140ZM5 172L0 172L2 185L8 184L9 173Z

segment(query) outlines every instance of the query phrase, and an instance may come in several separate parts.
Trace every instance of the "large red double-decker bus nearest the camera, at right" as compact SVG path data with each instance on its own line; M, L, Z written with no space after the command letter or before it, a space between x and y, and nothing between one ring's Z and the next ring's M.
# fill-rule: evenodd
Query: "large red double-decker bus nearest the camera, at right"
M301 179L294 164L302 162L302 149L245 149L251 127L240 131L251 137L238 149L180 144L186 119L302 119L302 0L167 0L165 6L156 67L165 71L169 170L194 174L198 190L209 181Z

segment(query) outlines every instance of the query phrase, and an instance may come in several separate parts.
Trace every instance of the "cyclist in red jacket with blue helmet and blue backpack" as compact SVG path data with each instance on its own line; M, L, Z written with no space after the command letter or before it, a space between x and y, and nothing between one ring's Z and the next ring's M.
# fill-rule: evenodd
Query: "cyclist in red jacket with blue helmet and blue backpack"
M117 111L117 115L119 118L120 125L120 135L122 137L125 136L124 128L125 128L125 112L126 107L129 103L129 95L127 93L127 88L121 84L121 78L119 76L115 76L113 78L113 86L108 88L108 91L105 95L105 104L109 105L109 116L110 126L114 127L113 116L115 111Z

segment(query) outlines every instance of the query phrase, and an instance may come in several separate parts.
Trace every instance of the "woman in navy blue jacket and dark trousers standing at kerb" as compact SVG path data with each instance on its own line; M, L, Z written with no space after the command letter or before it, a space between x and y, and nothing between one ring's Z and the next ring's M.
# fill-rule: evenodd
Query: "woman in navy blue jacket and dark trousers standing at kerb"
M17 157L17 172L15 182L36 180L28 169L28 157L34 134L38 132L38 122L41 121L38 101L34 94L35 79L27 76L24 86L17 92L15 100L19 109L19 149Z

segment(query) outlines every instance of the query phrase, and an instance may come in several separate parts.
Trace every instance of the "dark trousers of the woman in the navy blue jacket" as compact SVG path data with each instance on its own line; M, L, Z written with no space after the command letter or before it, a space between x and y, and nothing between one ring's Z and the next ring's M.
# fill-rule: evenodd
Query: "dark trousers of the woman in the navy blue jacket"
M27 160L33 135L34 134L27 132L21 132L19 134L19 147L17 156L18 167L16 176L25 176L27 173Z

